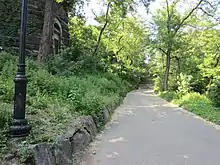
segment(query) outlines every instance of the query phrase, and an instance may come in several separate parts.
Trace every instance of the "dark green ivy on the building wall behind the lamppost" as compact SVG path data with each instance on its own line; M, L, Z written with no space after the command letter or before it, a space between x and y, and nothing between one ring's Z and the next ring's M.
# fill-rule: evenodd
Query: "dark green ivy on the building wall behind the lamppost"
M44 1L41 2L43 3ZM43 15L41 11L43 10L34 5L34 0L29 1L27 35L31 35L41 29ZM0 15L0 46L3 50L11 51L12 47L17 47L19 43L20 0L0 0Z

